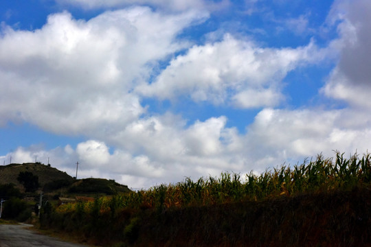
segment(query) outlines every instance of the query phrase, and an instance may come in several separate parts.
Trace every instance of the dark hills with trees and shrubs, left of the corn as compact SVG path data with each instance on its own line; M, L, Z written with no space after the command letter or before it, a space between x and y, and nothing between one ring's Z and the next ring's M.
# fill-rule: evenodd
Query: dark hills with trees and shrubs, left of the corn
M93 200L91 196L107 196L130 191L114 180L86 178L76 180L51 165L23 163L0 166L0 220L28 223L38 221L38 204L57 205L60 198L76 201ZM0 222L1 223L1 222Z

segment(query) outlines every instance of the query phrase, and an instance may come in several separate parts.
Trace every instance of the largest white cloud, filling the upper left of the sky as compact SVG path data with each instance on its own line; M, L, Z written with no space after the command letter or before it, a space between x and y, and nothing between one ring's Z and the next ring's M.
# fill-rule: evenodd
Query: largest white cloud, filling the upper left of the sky
M175 36L206 16L136 7L89 21L52 14L32 32L3 28L0 124L30 121L58 134L121 128L145 112L133 86L158 60L187 47Z

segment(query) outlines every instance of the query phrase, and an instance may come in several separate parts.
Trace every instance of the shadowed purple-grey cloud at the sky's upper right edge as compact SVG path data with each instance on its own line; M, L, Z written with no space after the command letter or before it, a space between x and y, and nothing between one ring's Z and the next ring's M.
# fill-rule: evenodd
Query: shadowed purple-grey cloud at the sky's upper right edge
M356 108L370 108L371 90L371 3L370 1L336 1L329 23L337 26L339 63L322 91ZM339 14L341 13L341 14Z

